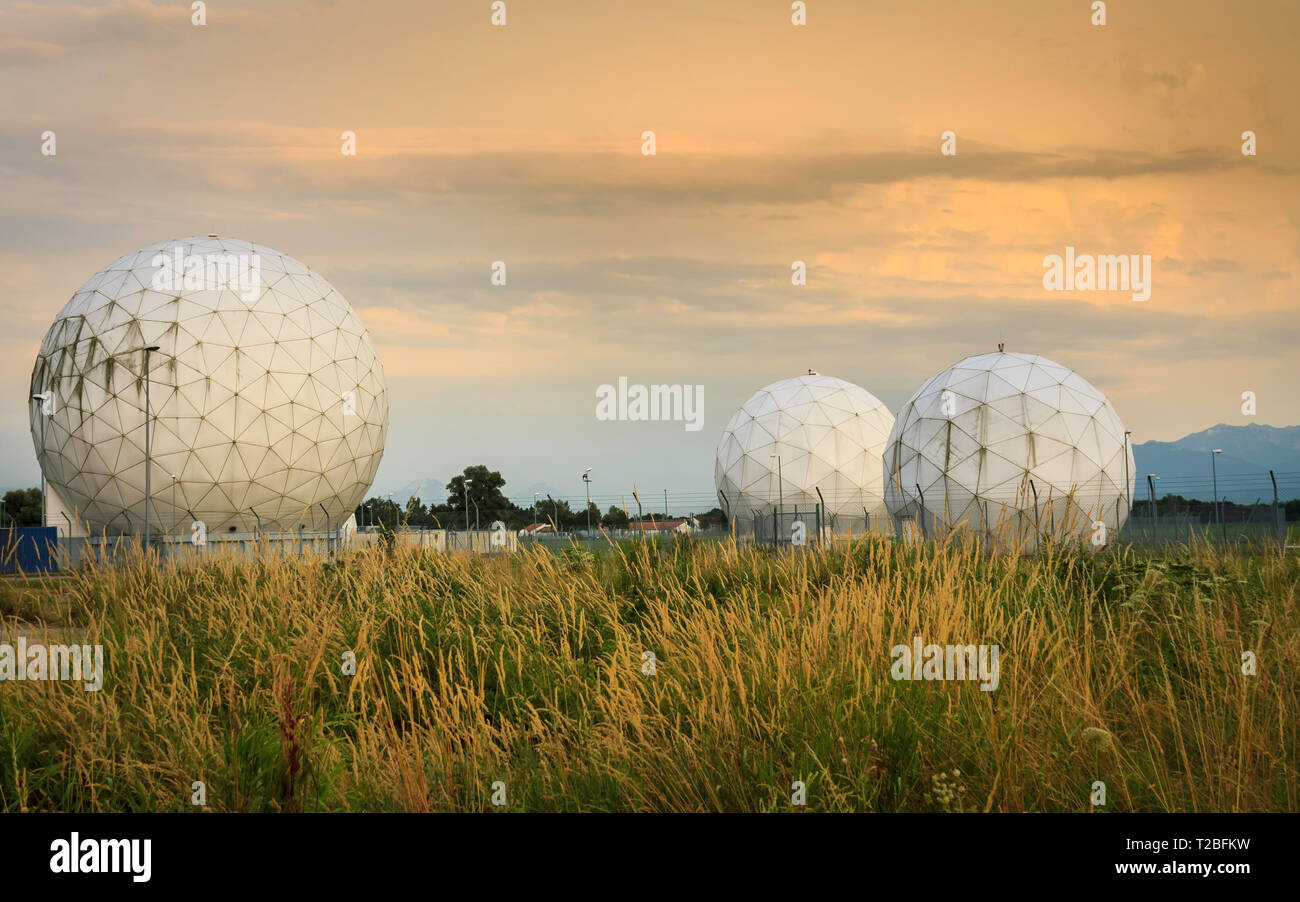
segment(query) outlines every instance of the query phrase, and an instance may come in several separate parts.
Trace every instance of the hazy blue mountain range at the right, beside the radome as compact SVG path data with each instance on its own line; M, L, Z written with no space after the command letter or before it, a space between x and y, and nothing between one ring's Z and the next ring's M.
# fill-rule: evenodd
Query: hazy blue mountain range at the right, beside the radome
M1223 451L1214 461L1221 498L1239 503L1257 498L1271 500L1270 469L1278 477L1282 500L1300 496L1300 426L1261 426L1253 422L1245 426L1221 422L1176 442L1134 445L1138 463L1134 496L1147 496L1147 474L1153 473L1160 477L1157 498L1166 494L1213 498L1210 452L1214 448Z

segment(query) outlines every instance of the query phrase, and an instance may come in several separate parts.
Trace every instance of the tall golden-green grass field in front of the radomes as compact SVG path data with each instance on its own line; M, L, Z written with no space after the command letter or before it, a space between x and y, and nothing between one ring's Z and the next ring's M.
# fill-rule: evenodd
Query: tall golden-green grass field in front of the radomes
M1300 811L1300 558L871 538L140 558L0 584L5 811ZM1000 684L890 649L998 645ZM30 638L29 641L36 641ZM655 672L644 672L644 652ZM1243 652L1257 673L1243 673ZM356 660L343 672L344 652ZM503 793L500 792L503 790Z

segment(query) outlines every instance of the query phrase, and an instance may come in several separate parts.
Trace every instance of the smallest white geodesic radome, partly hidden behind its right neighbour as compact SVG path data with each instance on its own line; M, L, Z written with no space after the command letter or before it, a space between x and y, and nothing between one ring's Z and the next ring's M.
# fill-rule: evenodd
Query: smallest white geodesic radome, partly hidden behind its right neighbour
M868 516L878 522L885 516L880 456L890 425L893 416L875 395L831 376L809 373L760 389L718 443L714 485L723 509L741 533L754 528L755 512L811 511L822 498L829 529L861 530Z

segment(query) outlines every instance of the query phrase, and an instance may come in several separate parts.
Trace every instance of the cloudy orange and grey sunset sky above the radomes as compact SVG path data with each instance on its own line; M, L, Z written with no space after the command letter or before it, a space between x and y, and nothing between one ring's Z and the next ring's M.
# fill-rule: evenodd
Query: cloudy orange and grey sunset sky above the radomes
M0 485L39 481L27 380L64 303L209 233L358 309L390 387L376 494L486 463L581 496L593 467L601 499L698 512L760 386L812 368L897 409L1000 338L1135 442L1300 422L1300 4L490 5L0 3ZM1067 246L1150 255L1150 299L1045 291ZM597 421L620 376L705 386L703 429Z

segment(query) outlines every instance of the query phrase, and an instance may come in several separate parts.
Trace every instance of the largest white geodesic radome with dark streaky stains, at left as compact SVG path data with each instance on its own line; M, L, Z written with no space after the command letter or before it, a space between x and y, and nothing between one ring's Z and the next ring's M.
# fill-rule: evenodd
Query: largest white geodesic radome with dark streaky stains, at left
M389 421L361 321L290 256L182 238L92 276L40 346L31 393L48 400L30 406L32 441L52 500L81 529L143 532L148 346L152 534L190 535L194 520L209 534L320 530L351 516ZM52 513L49 525L65 524Z

